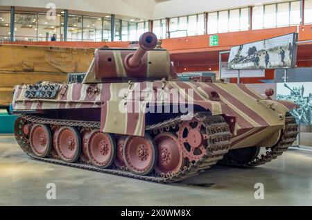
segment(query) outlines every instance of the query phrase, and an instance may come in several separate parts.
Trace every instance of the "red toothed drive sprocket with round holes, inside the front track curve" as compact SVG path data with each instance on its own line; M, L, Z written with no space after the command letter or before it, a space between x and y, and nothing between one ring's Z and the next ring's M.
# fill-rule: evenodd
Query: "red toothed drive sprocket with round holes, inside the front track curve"
M196 118L184 121L177 134L179 147L189 161L198 161L206 154L209 136L202 122Z

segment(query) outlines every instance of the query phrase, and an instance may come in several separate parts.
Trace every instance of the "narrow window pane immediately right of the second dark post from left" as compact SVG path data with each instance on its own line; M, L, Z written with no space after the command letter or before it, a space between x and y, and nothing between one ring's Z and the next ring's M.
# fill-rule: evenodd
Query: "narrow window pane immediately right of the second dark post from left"
M69 15L67 41L69 42L81 41L83 38L82 30L83 30L83 17L79 15Z

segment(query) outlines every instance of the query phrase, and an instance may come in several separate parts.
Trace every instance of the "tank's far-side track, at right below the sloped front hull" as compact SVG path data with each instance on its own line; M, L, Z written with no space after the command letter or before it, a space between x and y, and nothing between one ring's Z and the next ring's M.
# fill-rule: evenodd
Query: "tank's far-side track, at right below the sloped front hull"
M281 156L284 152L288 150L288 147L293 145L293 142L296 140L298 134L298 125L295 120L295 117L291 116L291 113L286 113L285 118L285 127L283 134L279 140L279 142L274 146L268 149L266 155L261 154L261 156L257 156L252 161L248 161L244 164L236 163L235 161L227 158L223 158L223 160L219 161L220 165L227 165L231 167L240 167L240 168L252 168L257 167L259 165L263 165L268 163L278 156ZM226 159L227 158L227 159Z

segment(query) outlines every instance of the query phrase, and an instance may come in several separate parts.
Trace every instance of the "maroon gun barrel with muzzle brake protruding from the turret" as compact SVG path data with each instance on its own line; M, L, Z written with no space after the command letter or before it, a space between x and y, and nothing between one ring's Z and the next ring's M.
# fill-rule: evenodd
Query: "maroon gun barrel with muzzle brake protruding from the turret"
M126 60L126 65L130 68L135 68L141 63L142 57L146 51L151 51L157 46L157 37L152 32L147 32L141 35L139 39L139 48L131 54Z

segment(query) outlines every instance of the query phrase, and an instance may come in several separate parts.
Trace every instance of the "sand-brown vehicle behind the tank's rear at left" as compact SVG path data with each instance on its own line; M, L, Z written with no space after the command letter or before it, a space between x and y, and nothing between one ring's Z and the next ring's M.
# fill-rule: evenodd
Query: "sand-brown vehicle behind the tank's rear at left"
M67 82L68 73L85 73L93 48L0 44L0 107L12 103L16 84Z

